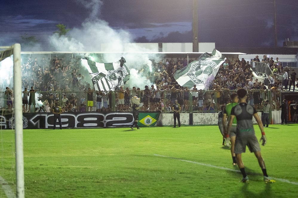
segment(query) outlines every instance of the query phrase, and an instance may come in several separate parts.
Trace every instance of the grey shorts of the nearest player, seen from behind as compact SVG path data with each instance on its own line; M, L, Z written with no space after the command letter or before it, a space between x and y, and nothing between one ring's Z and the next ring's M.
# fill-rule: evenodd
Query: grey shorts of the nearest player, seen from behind
M246 146L250 152L257 152L261 150L260 144L255 135L242 136L241 138L236 136L234 153L245 153Z

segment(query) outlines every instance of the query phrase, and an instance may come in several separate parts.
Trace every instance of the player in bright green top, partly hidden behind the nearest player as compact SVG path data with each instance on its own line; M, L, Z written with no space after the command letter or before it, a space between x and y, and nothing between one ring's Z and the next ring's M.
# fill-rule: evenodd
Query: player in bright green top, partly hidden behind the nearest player
M227 133L226 119L228 121L230 120L232 108L238 105L238 96L236 93L232 93L231 99L232 99L232 102L229 103L227 106L225 106L223 117L222 117L222 125L225 126L224 128L225 133ZM230 144L229 141L231 140L231 155L232 155L233 165L237 165L236 155L234 153L235 139L236 139L236 126L237 126L237 120L236 118L234 118L230 133L226 135L227 139L225 141L225 144L229 146Z

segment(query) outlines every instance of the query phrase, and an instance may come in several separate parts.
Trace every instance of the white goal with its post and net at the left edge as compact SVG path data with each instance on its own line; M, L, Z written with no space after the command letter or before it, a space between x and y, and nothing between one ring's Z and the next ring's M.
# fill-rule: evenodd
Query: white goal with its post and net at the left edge
M1 197L24 197L24 154L23 154L23 113L21 87L21 45L0 46L1 77ZM10 78L6 72L10 72ZM6 81L6 83L4 83ZM9 86L7 83L9 82ZM9 89L8 89L8 88ZM10 92L9 90L12 90ZM7 97L9 95L9 97ZM10 98L11 96L11 98ZM12 104L10 103L12 101ZM11 130L7 130L7 120L3 113L13 114ZM14 140L13 140L14 136ZM13 163L13 161L15 163ZM15 173L15 174L13 174Z

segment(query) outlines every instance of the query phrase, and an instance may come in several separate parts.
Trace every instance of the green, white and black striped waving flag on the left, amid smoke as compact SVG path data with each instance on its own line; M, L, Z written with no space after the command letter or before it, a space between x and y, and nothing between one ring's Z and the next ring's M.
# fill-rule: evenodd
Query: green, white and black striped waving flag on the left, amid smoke
M82 64L89 71L96 91L115 91L129 79L129 70L125 66L125 59L115 63L97 63L92 60L81 59Z

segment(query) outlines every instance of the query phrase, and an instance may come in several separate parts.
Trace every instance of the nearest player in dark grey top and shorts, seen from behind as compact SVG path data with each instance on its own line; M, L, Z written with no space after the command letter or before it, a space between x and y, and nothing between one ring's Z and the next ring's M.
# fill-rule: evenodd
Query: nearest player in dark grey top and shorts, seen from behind
M259 125L259 128L262 133L262 137L260 141L262 141L262 145L265 146L267 140L265 137L265 132L263 130L263 124L256 112L256 109L253 106L246 103L246 97L247 97L246 94L247 92L243 88L237 90L239 104L232 108L231 116L228 124L228 134L229 134L232 127L233 119L234 117L236 117L237 127L236 127L236 140L235 140L234 152L236 154L237 165L243 175L241 182L245 183L245 182L248 182L249 180L248 176L245 173L244 165L241 159L241 154L245 152L246 146L248 146L248 149L250 150L250 152L254 152L256 158L258 159L259 166L261 167L263 172L264 181L266 183L267 182L273 183L275 181L271 180L267 174L265 162L261 155L261 148L255 135L252 117L254 116L254 118L256 119Z

